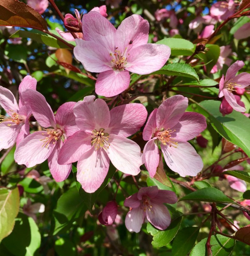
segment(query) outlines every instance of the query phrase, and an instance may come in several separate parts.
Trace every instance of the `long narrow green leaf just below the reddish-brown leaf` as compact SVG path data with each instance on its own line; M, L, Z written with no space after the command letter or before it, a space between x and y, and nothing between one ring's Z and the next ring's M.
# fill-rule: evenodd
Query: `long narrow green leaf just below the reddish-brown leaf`
M11 37L12 38L15 38L15 37L31 38L36 42L40 44L46 44L47 46L51 46L55 48L71 49L67 44L64 44L62 41L36 29L32 29L30 31L18 30L15 34L11 35Z

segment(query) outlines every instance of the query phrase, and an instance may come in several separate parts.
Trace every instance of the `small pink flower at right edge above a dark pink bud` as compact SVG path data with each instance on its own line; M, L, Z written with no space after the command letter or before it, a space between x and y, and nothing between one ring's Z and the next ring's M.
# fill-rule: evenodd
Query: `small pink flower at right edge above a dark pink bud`
M235 95L232 93L234 88L245 88L250 84L250 74L243 72L235 76L244 66L244 62L237 60L227 70L226 76L222 76L219 83L219 98L223 97L227 103L236 111L245 112L246 109L237 103Z

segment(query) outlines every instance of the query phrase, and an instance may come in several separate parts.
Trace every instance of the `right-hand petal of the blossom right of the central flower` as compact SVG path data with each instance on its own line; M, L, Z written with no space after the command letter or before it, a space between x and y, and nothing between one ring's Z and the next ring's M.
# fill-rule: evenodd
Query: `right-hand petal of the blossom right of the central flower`
M177 141L192 140L207 128L206 118L199 113L185 112L178 124L170 127Z

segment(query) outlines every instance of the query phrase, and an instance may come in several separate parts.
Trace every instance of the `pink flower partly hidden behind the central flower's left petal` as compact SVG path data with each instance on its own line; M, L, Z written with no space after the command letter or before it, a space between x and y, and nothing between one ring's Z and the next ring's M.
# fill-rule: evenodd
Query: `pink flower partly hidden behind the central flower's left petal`
M57 163L57 157L63 141L79 130L73 114L75 102L64 103L54 115L39 92L27 90L23 93L23 98L31 107L38 123L47 129L33 132L19 143L14 154L16 162L29 168L48 159L48 166L55 181L67 179L71 164L60 165Z

